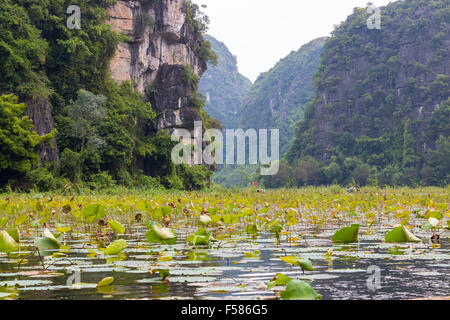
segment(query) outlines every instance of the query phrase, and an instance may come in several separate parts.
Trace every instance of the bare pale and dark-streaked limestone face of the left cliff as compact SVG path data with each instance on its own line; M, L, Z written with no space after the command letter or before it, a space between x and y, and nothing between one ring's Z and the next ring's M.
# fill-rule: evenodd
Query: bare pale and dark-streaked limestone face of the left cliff
M207 65L193 49L201 39L189 25L186 1L119 0L108 23L129 38L110 62L112 78L135 83L158 113L158 130L192 129L200 117L189 106L195 87L184 80L185 65L198 76Z

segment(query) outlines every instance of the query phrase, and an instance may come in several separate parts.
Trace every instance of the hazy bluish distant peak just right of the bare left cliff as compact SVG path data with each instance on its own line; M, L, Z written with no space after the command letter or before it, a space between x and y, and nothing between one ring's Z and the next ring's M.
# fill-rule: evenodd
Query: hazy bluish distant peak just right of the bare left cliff
M239 108L252 82L239 73L236 56L226 45L206 35L218 56L218 64L210 64L199 83L199 92L206 97L205 111L226 128L238 128Z

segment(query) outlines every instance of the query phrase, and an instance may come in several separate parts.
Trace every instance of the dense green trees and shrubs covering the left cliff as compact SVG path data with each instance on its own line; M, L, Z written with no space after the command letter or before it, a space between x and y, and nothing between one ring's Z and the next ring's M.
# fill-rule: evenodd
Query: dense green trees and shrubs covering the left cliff
M115 183L127 187L205 186L209 175L206 169L166 167L160 161L167 152L170 156L170 136L154 135L156 114L133 83L118 85L110 78L109 61L117 45L127 40L105 23L107 9L115 2L0 2L0 95L6 95L1 98L0 113L8 113L12 121L1 128L7 143L2 143L0 149L0 157L5 159L0 166L0 188L7 184L22 190L33 186L95 188ZM66 26L69 5L81 8L81 29ZM204 28L207 21L197 21L199 13L195 9L188 4L189 22ZM194 31L199 35L203 32ZM204 42L197 48L198 54L214 62L214 52ZM44 140L48 142L48 137L38 139L29 120L17 114L24 107L17 105L11 94L28 107L50 106L49 117L57 129L59 166L39 165L37 149ZM101 116L93 117L93 111ZM20 135L14 136L19 131ZM12 150L7 147L11 139L23 143ZM143 159L152 161L153 178L143 176L139 170Z

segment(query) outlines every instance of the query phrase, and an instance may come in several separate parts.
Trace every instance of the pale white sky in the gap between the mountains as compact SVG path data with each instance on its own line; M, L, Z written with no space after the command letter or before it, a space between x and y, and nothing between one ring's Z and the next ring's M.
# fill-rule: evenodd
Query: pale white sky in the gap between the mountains
M255 81L292 50L330 35L354 7L389 0L193 0L208 7L209 34L238 58L239 71Z

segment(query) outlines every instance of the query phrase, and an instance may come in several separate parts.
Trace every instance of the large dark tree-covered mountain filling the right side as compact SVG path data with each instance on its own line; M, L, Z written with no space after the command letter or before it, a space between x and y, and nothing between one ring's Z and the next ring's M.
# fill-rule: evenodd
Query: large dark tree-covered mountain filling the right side
M281 183L450 180L450 1L356 8L327 41Z

